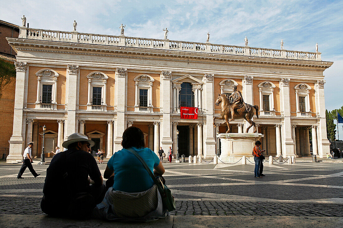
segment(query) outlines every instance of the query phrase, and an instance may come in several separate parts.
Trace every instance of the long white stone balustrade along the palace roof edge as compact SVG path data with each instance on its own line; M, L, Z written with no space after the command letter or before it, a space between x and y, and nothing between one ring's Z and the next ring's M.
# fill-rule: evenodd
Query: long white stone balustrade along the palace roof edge
M231 45L217 45L212 43L185 42L167 39L162 40L127 36L85 34L78 33L76 31L66 32L25 27L20 27L19 38L321 61L320 52L303 52L284 49L277 50L267 48L252 48L247 46L241 47Z

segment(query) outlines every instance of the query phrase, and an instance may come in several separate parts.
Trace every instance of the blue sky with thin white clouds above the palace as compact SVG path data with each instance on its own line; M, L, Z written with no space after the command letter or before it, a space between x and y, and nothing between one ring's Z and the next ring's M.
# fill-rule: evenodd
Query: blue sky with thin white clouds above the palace
M334 64L324 71L326 109L343 106L343 0L0 0L0 20L31 28L71 31L73 21L81 33L125 35L210 42L250 47L315 51ZM340 134L343 131L340 124Z

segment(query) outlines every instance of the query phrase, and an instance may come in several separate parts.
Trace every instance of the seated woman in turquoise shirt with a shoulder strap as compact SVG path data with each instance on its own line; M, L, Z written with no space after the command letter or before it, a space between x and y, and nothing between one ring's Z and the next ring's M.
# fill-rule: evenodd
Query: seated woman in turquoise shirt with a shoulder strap
M107 162L104 178L114 176L114 184L105 199L94 210L95 217L108 220L155 220L169 215L163 208L161 195L141 161L129 150L134 150L145 161L154 175L162 176L165 169L158 156L145 148L144 134L137 127L127 128L122 137L123 149Z

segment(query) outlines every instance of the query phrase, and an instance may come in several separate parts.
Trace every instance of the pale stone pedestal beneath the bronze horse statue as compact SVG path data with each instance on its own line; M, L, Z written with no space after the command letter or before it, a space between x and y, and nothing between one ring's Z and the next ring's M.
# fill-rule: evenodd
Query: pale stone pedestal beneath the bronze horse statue
M236 162L242 156L252 156L251 153L255 142L263 136L258 133L218 134L217 137L221 142L221 155L219 159L223 162Z

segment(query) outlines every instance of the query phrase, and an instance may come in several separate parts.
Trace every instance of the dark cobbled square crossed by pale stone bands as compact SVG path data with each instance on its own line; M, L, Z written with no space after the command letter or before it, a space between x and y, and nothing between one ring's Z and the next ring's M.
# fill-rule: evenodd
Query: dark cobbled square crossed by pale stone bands
M171 215L343 217L343 163L254 165L163 163L176 198ZM48 165L16 175L20 165L0 163L0 214L39 215ZM99 164L103 173L106 164Z

